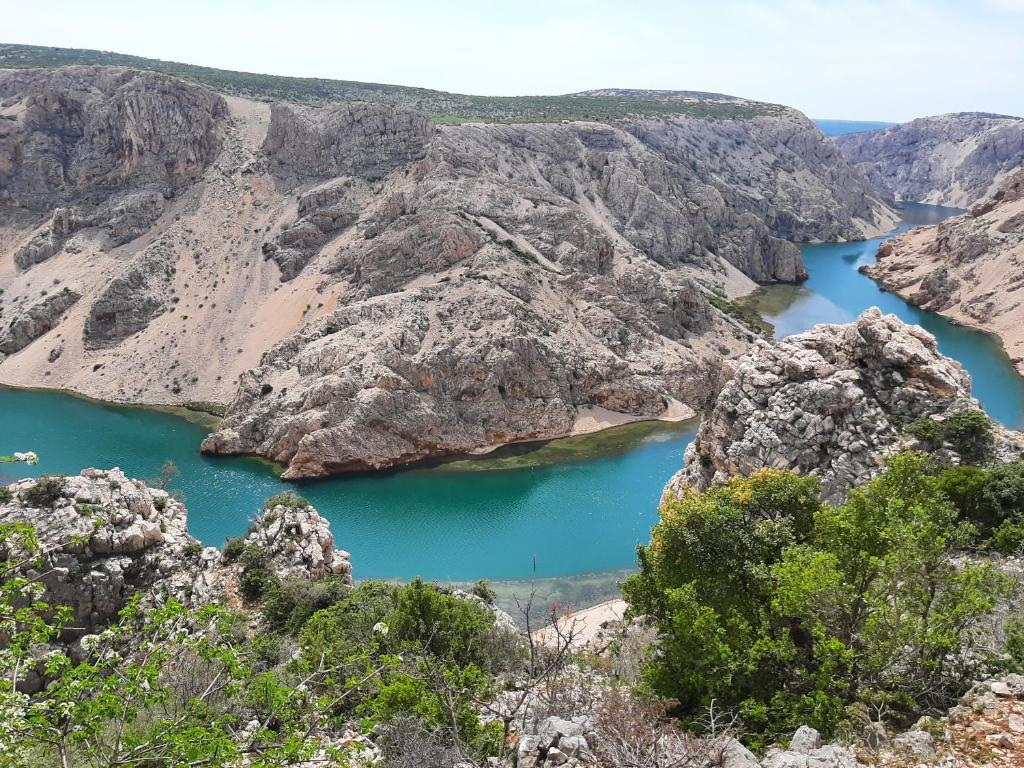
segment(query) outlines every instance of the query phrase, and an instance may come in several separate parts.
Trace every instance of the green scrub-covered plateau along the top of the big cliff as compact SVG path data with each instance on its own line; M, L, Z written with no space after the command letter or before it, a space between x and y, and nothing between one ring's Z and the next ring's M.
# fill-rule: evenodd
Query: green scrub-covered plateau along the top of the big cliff
M105 65L173 75L221 93L262 101L370 101L410 106L441 123L608 121L628 117L686 115L707 119L744 119L775 115L786 108L701 91L650 91L607 88L558 96L472 96L403 85L352 80L293 78L232 72L210 67L84 48L52 48L0 43L0 68Z

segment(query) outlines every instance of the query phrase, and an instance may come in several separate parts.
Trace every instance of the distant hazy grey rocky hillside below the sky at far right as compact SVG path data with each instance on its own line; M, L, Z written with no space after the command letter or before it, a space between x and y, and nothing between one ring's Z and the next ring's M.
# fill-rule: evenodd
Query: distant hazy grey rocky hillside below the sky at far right
M877 187L900 200L967 207L1024 165L1024 119L954 113L834 139Z

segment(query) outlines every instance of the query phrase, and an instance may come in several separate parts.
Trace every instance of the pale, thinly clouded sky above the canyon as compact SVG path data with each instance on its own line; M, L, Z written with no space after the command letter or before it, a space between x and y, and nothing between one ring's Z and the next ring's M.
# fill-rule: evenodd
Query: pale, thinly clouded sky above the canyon
M708 90L1024 115L1024 0L0 0L0 42L485 95Z

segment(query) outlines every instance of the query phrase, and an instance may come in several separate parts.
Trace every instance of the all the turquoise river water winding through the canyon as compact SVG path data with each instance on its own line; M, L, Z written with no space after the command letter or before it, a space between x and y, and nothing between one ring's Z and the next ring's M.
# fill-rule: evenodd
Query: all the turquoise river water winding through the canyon
M908 206L924 223L952 209ZM878 304L939 337L962 359L991 412L1024 423L1024 380L998 345L938 315L882 293L856 269L881 239L807 246L811 273L800 287L758 296L780 334L814 323L846 322ZM338 546L353 553L360 579L466 581L556 577L632 566L646 542L666 480L682 464L695 425L638 424L599 435L509 446L486 459L432 468L349 476L298 490L331 519ZM36 467L0 465L10 480L26 474L119 466L153 478L170 459L180 475L189 528L207 544L245 530L262 500L294 485L266 464L199 453L206 429L178 416L105 406L56 392L0 389L0 453L35 451ZM536 567L536 570L535 570Z

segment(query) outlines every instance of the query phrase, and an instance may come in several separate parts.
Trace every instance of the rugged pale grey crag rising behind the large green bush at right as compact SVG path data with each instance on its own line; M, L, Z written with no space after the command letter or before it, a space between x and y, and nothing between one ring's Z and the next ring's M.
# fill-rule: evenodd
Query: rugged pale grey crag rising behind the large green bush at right
M903 425L966 408L977 403L959 364L927 331L872 307L741 357L666 494L774 467L819 477L836 501L882 466Z

